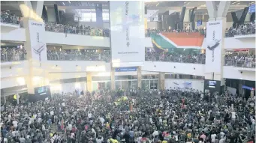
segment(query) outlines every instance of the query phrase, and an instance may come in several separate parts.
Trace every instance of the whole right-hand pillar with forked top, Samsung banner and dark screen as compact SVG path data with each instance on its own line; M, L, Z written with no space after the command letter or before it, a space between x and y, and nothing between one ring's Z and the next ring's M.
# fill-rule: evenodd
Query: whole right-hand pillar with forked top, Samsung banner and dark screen
M206 1L209 13L209 22L206 26L206 70L204 89L211 94L224 91L223 65L224 65L224 34L226 16L230 1Z

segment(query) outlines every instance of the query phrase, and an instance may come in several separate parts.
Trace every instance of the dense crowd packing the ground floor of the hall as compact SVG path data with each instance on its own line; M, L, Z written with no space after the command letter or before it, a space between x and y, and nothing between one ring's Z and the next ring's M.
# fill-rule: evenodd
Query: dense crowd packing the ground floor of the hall
M192 88L81 91L1 107L1 142L255 142L254 99Z

